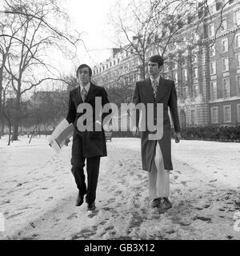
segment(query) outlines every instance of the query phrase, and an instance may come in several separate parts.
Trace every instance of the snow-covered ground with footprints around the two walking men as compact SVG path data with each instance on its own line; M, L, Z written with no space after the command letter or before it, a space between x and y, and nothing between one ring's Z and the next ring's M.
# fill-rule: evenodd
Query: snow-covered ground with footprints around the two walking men
M85 203L74 206L71 145L55 154L45 137L6 141L0 139L0 239L240 239L240 143L172 141L173 208L159 214L150 207L140 140L113 138L93 214Z

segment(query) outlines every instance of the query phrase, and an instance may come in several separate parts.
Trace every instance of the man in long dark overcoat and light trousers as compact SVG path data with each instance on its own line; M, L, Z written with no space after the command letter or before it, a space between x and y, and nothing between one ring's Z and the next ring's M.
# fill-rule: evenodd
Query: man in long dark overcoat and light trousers
M168 199L170 194L170 170L173 170L171 161L171 130L170 118L168 109L174 124L175 142L180 142L180 125L178 118L177 94L174 86L174 81L166 80L160 76L163 66L163 59L159 55L150 57L148 62L148 72L150 78L144 81L137 82L134 90L133 102L144 104L147 109L147 104L154 104L153 118L156 125L157 104L163 104L163 134L162 138L150 140L149 135L154 134L154 131L147 129L141 131L141 123L144 119L147 123L147 118L143 117L142 113L137 115L138 132L140 128L141 146L142 146L142 169L148 171L149 174L149 194L150 200L153 200L152 206L159 207L161 210L167 210L172 205ZM140 119L140 120L139 120ZM138 126L140 124L140 127Z

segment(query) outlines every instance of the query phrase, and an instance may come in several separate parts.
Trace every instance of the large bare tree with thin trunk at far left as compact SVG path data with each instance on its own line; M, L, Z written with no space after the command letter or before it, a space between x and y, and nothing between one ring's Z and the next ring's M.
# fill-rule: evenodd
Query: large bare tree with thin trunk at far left
M47 55L50 50L58 49L72 54L73 58L79 34L77 37L64 34L50 24L49 21L56 22L54 17L58 17L58 23L62 26L63 21L66 22L67 19L55 0L4 2L6 18L14 18L11 26L14 27L14 32L17 31L14 36L13 33L1 35L1 38L10 38L11 42L9 52L5 56L4 68L13 80L12 86L16 95L13 132L13 139L16 140L22 95L47 80L62 80L59 79L58 70L49 64ZM68 48L71 50L67 50Z

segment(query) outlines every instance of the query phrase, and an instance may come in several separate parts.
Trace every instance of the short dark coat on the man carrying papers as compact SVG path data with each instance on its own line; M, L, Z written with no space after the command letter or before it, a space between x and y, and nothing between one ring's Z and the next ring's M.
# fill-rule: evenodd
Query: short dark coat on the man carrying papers
M91 158L95 156L106 156L106 138L104 130L101 131L79 131L77 128L78 118L84 114L77 113L78 105L82 103L80 86L70 90L69 110L66 120L74 124L74 137L72 154L80 154L82 157ZM85 103L89 103L93 109L93 121L95 120L95 98L102 98L102 106L108 103L106 90L101 86L95 86L90 82L90 90L86 96ZM102 119L108 115L102 114Z

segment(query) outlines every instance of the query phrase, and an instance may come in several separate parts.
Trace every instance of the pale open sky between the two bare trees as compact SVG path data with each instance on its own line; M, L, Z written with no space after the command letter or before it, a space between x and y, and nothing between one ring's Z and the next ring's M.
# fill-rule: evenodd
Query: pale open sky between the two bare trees
M73 65L86 63L94 66L110 57L111 48L115 47L114 31L111 29L108 14L114 6L114 0L62 0L62 6L70 16L71 25L82 33L84 46L78 46L78 59ZM69 70L69 64L64 65Z

